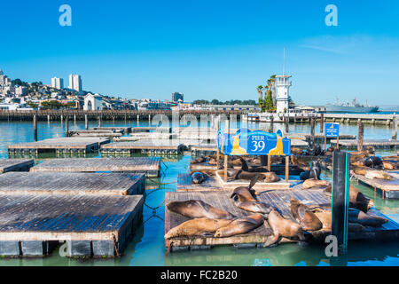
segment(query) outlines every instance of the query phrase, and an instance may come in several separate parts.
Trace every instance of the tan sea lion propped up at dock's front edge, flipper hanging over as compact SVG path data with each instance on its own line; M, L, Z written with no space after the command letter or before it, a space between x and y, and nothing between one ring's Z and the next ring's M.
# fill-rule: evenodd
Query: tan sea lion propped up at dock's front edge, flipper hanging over
M282 217L276 209L270 211L267 222L271 230L273 230L273 234L264 243L263 247L269 247L280 241L283 237L298 237L301 241L305 240L301 225Z

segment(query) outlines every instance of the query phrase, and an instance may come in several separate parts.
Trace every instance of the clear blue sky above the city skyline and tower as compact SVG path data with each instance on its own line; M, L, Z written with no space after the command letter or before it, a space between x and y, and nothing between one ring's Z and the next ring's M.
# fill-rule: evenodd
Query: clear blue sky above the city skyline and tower
M72 27L59 26L59 6ZM338 7L338 27L325 6ZM297 103L357 97L399 105L399 1L3 1L0 68L28 82L82 75L83 89L126 98L257 99L293 75Z

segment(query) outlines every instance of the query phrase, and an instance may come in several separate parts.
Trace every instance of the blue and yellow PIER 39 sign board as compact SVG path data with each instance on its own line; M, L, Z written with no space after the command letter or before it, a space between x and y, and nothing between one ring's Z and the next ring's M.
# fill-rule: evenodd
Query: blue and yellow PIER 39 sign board
M217 146L221 154L228 155L290 155L291 139L283 133L269 133L262 130L240 129L236 134L219 130Z

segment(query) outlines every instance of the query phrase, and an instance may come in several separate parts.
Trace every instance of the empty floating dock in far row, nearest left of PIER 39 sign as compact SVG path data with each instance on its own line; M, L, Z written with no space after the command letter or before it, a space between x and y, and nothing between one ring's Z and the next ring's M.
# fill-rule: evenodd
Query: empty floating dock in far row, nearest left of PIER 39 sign
M135 142L115 142L101 146L101 153L182 154L184 145L178 140L142 139Z

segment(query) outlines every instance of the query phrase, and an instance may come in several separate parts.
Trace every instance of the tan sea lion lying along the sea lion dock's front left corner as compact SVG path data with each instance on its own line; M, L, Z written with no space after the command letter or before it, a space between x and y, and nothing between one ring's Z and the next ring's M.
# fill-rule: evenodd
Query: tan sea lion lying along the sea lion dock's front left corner
M209 219L209 218L198 218L188 220L180 225L169 230L165 234L165 239L176 238L176 237L191 237L191 236L203 236L207 233L214 233L219 228L231 224L231 220L227 219Z

